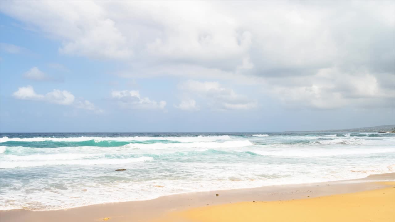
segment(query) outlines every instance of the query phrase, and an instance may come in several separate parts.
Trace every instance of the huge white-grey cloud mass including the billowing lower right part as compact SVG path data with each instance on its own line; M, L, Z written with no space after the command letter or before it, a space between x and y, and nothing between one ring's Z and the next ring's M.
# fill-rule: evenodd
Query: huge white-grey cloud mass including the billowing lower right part
M59 39L61 53L124 61L123 77L231 79L292 107L395 100L394 1L5 1L1 11Z

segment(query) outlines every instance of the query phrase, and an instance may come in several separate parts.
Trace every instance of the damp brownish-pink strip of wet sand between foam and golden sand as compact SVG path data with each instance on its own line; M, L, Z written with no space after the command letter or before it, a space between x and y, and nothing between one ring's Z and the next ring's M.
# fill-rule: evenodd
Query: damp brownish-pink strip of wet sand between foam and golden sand
M0 220L15 222L51 221L51 218L57 217L57 222L66 222L70 220L100 221L107 217L111 218L111 221L147 221L167 212L180 211L191 207L243 201L303 199L307 195L314 198L333 194L354 193L384 188L386 187L385 185L374 182L394 180L395 173L384 173L351 180L188 192L161 196L150 200L100 203L61 210L30 211L11 209L0 211ZM330 184L330 186L327 184ZM216 196L216 194L220 195Z

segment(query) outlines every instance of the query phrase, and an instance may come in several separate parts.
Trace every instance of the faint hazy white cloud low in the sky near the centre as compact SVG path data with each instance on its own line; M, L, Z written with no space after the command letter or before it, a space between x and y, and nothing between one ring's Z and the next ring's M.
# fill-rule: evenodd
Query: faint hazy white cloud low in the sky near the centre
M203 98L214 109L252 109L257 105L256 100L237 94L232 89L224 88L218 82L188 80L179 84L179 89L187 94ZM183 103L181 102L181 104ZM187 104L184 103L184 107L188 107Z

